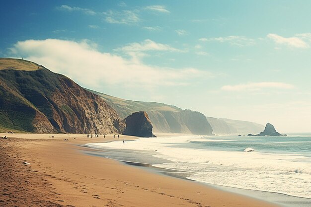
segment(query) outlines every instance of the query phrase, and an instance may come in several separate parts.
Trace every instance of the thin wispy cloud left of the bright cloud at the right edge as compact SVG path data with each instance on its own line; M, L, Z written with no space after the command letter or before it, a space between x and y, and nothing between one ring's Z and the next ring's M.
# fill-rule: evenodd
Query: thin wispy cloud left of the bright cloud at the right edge
M235 45L238 47L244 47L244 46L252 46L256 44L256 41L254 39L247 38L245 36L227 36L227 37L213 37L213 38L201 38L199 41L202 42L228 42L231 45Z

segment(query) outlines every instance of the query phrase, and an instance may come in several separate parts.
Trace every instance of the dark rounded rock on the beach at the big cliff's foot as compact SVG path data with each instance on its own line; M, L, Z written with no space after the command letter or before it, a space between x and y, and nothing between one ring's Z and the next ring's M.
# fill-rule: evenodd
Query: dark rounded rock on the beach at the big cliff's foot
M126 128L123 135L150 138L156 137L152 134L153 126L148 114L144 111L135 112L124 119Z

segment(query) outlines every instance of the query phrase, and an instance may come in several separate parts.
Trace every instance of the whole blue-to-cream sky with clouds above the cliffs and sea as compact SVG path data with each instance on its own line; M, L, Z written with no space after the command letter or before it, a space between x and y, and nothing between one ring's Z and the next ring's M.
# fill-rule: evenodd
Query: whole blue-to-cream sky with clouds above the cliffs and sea
M0 57L112 96L311 132L310 0L10 0Z

